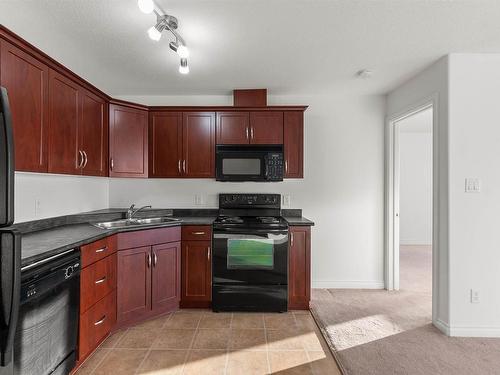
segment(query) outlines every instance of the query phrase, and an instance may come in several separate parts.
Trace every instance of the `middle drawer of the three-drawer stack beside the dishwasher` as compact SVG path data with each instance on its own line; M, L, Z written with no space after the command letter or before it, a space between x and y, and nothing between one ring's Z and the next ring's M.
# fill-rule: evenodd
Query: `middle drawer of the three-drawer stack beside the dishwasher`
M116 253L84 268L80 276L80 313L116 289Z

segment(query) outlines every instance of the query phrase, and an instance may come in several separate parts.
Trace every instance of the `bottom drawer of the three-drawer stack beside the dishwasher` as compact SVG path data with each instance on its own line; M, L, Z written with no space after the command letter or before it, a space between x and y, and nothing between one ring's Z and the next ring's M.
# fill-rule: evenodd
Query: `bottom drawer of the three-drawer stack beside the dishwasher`
M87 357L111 332L116 323L116 291L108 294L80 316L78 359Z

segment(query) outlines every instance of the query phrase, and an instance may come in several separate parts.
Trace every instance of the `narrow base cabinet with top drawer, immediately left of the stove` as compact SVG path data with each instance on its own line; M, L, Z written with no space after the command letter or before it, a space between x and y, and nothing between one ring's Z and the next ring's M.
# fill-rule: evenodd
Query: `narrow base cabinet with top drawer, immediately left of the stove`
M208 307L212 299L210 226L182 228L181 307Z

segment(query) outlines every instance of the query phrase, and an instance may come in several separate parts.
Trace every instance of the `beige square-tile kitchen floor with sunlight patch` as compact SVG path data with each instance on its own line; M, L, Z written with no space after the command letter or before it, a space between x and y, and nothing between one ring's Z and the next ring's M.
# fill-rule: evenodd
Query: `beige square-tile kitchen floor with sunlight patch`
M76 375L340 374L308 311L179 310L116 332Z

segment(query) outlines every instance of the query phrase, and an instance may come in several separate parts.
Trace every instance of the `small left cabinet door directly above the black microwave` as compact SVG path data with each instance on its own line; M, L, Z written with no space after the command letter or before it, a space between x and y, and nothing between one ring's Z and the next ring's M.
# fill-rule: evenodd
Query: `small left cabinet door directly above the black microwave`
M217 144L246 145L250 142L248 112L217 112Z

